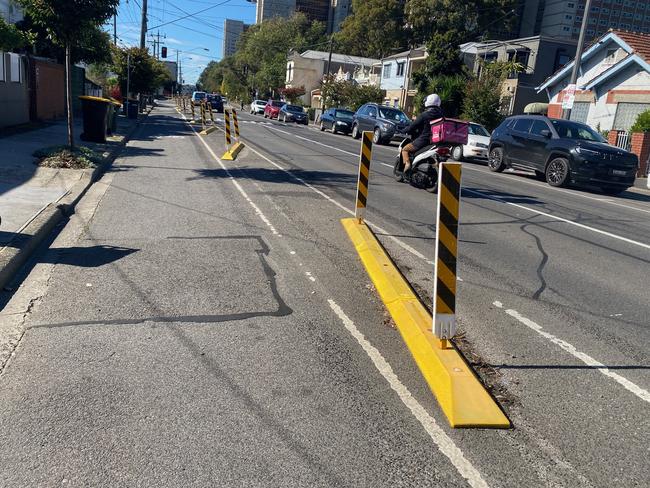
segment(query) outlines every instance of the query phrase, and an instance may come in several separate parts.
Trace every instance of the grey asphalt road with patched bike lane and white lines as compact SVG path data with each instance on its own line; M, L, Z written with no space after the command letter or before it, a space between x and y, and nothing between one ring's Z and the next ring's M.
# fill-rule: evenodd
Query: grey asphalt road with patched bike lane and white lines
M339 223L358 141L241 119L225 166L154 111L4 293L0 485L647 486L646 193L464 165L460 345L514 428L452 430ZM368 220L426 301L435 195L395 150Z

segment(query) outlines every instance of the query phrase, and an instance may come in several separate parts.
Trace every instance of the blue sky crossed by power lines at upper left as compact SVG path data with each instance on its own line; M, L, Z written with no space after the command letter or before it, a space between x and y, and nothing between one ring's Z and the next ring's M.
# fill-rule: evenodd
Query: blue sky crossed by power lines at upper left
M224 19L243 20L247 24L255 22L255 4L246 0L148 0L147 5L148 28L152 29L147 41L152 40L150 34L160 31L161 45L167 46L170 61L176 60L176 49L182 51L179 57L186 83L194 83L210 61L221 59ZM142 0L120 0L117 16L120 45L140 44L141 6ZM186 18L177 20L181 17ZM156 28L161 24L166 25ZM112 22L106 25L106 30L113 34ZM162 38L163 34L166 39ZM147 46L152 48L150 42Z

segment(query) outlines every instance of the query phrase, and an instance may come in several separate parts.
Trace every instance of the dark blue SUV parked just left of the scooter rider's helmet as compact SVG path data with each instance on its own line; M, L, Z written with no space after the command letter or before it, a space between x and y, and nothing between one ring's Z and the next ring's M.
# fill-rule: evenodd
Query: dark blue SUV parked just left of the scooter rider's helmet
M359 107L352 121L352 137L358 139L364 131L373 132L372 142L388 144L406 138L406 128L410 121L399 109L385 107L377 103L366 103Z

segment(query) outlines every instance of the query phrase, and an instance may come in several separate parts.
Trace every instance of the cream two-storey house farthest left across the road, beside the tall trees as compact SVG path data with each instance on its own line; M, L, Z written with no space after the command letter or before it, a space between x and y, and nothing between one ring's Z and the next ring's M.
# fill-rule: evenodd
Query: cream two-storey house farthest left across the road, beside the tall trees
M369 83L371 80L372 66L379 62L378 59L348 56L347 54L330 53L324 51L305 51L292 53L287 61L286 87L305 87L303 103L311 104L312 92L320 90L323 77L330 73L339 79L348 79L359 84ZM329 70L328 70L329 62Z

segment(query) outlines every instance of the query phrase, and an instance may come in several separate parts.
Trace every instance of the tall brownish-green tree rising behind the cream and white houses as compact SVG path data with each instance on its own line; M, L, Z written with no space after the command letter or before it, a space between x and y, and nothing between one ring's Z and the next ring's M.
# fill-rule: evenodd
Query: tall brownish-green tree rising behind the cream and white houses
M404 0L352 0L352 14L335 35L338 52L381 59L407 46Z

